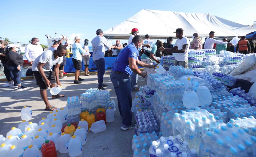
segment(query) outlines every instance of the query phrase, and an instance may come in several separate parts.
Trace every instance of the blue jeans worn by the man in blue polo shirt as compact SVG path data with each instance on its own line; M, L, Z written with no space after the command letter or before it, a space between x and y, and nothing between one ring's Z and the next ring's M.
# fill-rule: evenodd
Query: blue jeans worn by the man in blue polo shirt
M122 117L122 124L129 126L132 124L132 89L130 77L125 74L111 72L111 81L117 95L118 109Z

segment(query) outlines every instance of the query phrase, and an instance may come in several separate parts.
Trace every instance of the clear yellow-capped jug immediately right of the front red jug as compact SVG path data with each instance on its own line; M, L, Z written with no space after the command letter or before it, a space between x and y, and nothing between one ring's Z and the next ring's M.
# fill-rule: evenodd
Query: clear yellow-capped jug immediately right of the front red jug
M60 153L68 153L68 144L71 136L65 132L57 140L57 146Z

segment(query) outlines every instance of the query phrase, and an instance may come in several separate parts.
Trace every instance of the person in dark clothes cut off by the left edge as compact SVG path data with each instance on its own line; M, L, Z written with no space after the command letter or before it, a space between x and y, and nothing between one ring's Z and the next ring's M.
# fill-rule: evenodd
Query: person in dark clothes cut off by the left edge
M5 77L7 79L7 83L3 85L3 87L9 87L13 85L13 73L8 70L8 68L6 67L6 63L8 61L7 58L7 52L6 52L6 48L7 48L8 42L4 41L4 40L0 40L0 60L4 66L4 74Z

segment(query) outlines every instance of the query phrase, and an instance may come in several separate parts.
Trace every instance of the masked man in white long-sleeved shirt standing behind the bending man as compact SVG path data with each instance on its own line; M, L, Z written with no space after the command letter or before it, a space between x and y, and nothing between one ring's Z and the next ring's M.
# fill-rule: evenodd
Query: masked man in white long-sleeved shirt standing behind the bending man
M33 64L33 61L43 52L43 48L40 45L38 38L32 38L31 44L28 44L25 47L25 57L31 65Z

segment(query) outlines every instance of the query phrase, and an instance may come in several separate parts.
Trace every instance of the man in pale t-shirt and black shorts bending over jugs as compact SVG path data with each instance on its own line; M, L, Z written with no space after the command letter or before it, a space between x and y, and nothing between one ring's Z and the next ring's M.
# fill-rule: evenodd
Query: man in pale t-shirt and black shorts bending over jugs
M32 64L32 71L36 78L36 81L39 84L40 94L45 103L45 110L47 111L53 111L57 109L56 107L50 105L50 103L48 102L46 89L48 87L55 87L55 82L57 84L57 87L61 86L59 81L59 66L60 63L63 61L63 56L66 55L66 52L66 47L64 45L59 45L57 50L54 50L53 52L51 50L47 50L39 55ZM54 64L56 64L54 67L56 79L54 78L53 71L51 70ZM53 95L52 99L64 96L65 95L57 94Z

